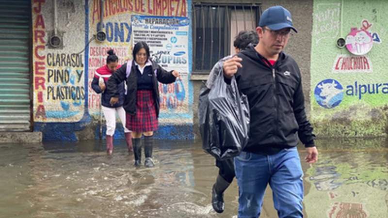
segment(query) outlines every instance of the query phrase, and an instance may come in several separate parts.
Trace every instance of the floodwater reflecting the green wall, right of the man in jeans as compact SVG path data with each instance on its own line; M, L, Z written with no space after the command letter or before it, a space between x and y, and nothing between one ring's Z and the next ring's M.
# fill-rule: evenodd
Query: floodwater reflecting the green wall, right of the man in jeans
M305 198L307 214L328 218L387 218L385 139L320 142L329 144L322 150L320 161L306 171L306 181L311 184Z

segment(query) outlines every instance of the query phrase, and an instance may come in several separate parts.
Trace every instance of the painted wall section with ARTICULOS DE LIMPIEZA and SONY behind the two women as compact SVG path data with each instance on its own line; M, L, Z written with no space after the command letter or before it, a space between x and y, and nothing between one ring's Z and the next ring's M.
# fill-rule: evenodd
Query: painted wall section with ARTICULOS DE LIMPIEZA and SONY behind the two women
M89 45L88 59L88 93L89 93L89 112L94 120L99 120L100 112L100 95L95 93L91 88L91 81L94 72L97 68L105 64L107 57L106 52L113 49L119 58L119 63L125 63L132 59L132 47L137 41L146 41L150 47L151 58L158 62L162 67L169 70L169 64L166 62L174 62L174 69L180 72L181 77L173 84L159 85L161 93L161 111L160 111L160 128L157 134L161 138L193 138L193 88L189 82L189 50L188 45L191 39L189 38L189 7L191 2L187 0L106 0L104 4L103 19L101 23L101 7L100 0L90 0L88 16L89 28L88 38L92 38L97 34L97 31L106 33L106 40L98 42L93 40ZM172 19L187 20L186 37L180 37L179 31L174 31L174 36L177 38L176 45L185 46L184 54L171 53L166 54L167 49L159 48L155 44L161 45L160 41L166 33L166 28L169 24L155 23L152 31L147 33L144 26L133 26L132 17L148 16L162 19L163 17L171 17ZM169 37L172 37L169 35ZM172 45L173 43L170 43ZM167 50L167 51L166 51ZM182 49L181 49L182 50ZM171 58L171 59L170 59ZM171 134L177 132L176 127L180 126L178 135ZM117 132L120 131L118 125ZM181 135L183 134L183 136ZM98 134L96 134L98 135ZM116 135L116 134L115 134ZM120 135L120 134L117 134Z

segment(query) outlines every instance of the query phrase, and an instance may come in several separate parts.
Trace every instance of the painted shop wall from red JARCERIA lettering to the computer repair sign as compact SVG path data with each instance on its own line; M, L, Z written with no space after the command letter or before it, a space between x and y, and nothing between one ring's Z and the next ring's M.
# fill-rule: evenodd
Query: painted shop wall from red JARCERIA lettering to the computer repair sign
M132 15L183 18L189 27L190 19L187 17L191 1L188 0L105 0L102 1L103 13L100 2L84 0L74 3L73 8L67 11L66 7L58 10L58 17L61 19L57 19L56 26L63 44L54 49L48 46L51 32L54 31L53 2L32 0L34 130L44 132L44 140L78 140L74 131L80 131L90 123L98 123L95 134L98 137L98 129L101 129L99 126L104 124L100 122L100 95L91 89L91 81L96 69L106 63L109 49L115 51L120 64L132 58ZM182 76L174 84L160 86L160 132L169 136L169 132L179 128L175 125L184 125L183 129L186 130L180 131L183 137L179 135L179 138L194 137L193 88L189 82L188 62L191 56L189 29L187 28L184 39L176 32L176 45L185 45L186 51L171 55L177 66L183 66L179 68L184 69ZM106 39L97 41L97 31L105 32ZM154 36L151 37L163 34L162 29L153 31ZM156 53L153 53L153 57L156 59ZM180 61L177 62L178 59ZM158 61L171 60L163 57ZM45 137L48 136L45 132L54 128L49 125L53 125L58 132L64 128L63 131L71 132L72 135ZM163 126L168 128L163 129Z

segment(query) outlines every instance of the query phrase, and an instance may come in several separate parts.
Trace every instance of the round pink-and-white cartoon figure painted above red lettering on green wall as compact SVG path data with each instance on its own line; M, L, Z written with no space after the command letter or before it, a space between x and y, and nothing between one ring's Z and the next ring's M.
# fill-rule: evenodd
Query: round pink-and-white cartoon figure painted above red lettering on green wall
M370 32L352 28L346 36L346 48L355 55L368 53L373 46L373 38Z

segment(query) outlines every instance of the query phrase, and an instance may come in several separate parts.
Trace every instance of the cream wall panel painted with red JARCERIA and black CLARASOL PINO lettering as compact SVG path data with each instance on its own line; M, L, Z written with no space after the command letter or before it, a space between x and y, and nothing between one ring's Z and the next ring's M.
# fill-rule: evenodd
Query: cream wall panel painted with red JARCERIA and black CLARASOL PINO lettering
M32 1L34 122L78 122L85 109L84 54L74 53L77 44L47 46L52 19L43 12L51 3Z

